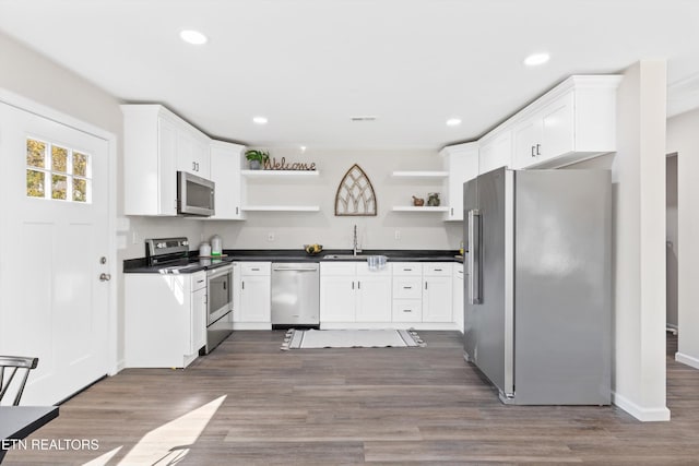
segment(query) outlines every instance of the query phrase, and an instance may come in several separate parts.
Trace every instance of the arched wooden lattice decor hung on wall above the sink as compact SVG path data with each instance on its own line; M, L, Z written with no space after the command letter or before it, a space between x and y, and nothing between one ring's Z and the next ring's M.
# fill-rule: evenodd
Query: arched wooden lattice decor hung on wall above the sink
M354 164L340 181L335 193L336 216L376 215L376 193L369 177Z

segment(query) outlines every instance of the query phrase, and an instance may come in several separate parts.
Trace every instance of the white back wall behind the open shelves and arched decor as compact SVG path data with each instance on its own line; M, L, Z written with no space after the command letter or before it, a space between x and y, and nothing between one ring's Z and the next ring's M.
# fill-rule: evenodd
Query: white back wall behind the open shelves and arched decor
M410 205L412 195L427 199L441 192L441 179L415 180L391 177L393 170L439 170L436 151L313 151L271 148L277 160L315 162L318 179L248 179L247 202L253 205L320 205L320 212L251 212L246 222L209 222L206 240L218 234L224 249L301 249L320 243L324 249L351 249L353 225L357 225L363 249L459 249L461 223L442 222L441 213L392 212L394 205ZM336 217L334 200L345 172L358 164L376 192L375 217ZM399 232L400 239L395 239ZM274 241L269 241L269 235Z

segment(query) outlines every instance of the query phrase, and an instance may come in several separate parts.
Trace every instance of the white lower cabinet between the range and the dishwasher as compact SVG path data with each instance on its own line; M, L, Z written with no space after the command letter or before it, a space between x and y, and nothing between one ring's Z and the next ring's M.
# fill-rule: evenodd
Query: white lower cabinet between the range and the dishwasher
M233 322L236 330L272 327L272 263L234 262Z

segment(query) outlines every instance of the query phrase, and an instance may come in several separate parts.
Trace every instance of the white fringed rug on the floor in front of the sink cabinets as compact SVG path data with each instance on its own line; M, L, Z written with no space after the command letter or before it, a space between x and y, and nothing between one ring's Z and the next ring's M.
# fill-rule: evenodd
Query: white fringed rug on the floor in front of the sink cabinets
M425 346L413 330L295 330L284 336L283 350L304 348L415 348Z

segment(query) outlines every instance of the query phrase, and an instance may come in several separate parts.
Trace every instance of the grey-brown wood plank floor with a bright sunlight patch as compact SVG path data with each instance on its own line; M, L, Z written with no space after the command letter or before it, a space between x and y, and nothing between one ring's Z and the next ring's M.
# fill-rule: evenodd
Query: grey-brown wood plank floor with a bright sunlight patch
M98 450L11 451L3 465L699 464L699 371L672 359L673 337L673 419L642 423L615 407L505 406L457 332L420 332L426 348L286 353L283 335L236 332L186 370L125 370L31 438Z

